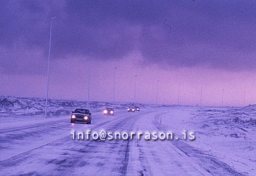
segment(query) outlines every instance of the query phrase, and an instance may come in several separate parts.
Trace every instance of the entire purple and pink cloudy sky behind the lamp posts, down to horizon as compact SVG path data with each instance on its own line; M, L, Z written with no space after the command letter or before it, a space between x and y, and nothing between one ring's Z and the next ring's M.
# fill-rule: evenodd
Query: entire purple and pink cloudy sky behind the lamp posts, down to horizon
M255 1L0 1L0 95L220 106L255 104Z

